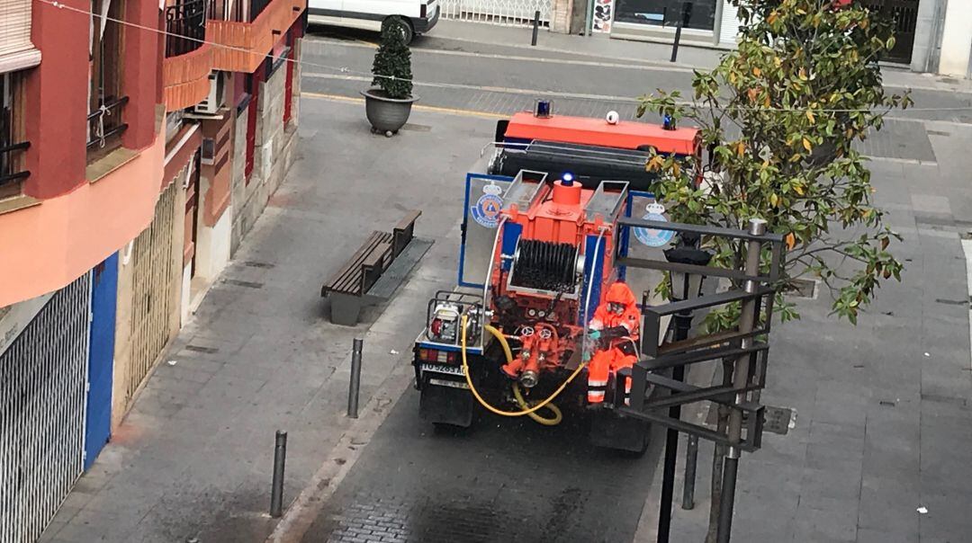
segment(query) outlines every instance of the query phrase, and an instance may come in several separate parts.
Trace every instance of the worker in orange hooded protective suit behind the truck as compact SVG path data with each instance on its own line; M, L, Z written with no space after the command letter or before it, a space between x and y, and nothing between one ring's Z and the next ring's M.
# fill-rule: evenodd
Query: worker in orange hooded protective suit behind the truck
M588 334L597 342L594 356L587 365L587 402L605 400L610 374L630 368L638 361L637 342L642 324L635 294L626 284L617 281L608 288L604 302L588 323ZM585 354L585 356L587 356ZM631 392L631 378L625 381L625 403Z

